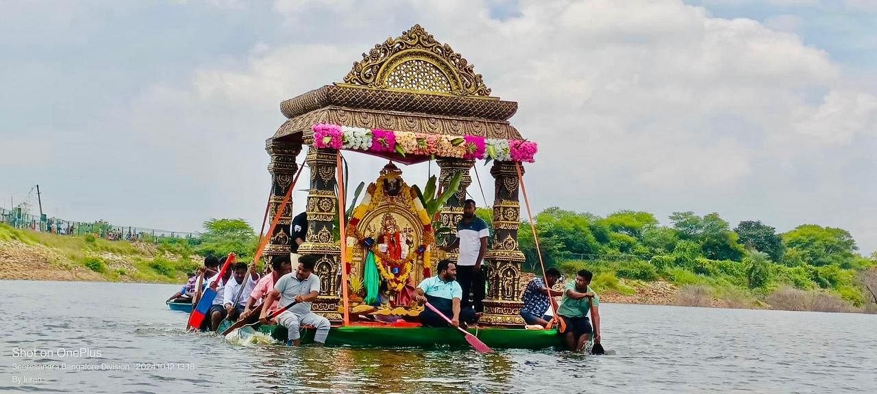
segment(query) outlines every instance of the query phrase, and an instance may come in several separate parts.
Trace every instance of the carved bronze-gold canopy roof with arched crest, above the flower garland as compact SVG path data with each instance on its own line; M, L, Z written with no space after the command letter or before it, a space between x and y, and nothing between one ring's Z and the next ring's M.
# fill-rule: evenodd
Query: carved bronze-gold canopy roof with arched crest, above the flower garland
M310 144L314 123L453 136L520 139L517 102L491 97L481 74L420 25L363 53L344 82L281 103L273 138Z

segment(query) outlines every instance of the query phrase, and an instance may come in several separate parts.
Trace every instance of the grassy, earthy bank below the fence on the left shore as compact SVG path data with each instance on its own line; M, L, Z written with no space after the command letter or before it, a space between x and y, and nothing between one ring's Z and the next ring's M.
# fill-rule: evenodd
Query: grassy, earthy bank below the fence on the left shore
M58 236L0 224L0 279L181 283L199 260L174 243Z

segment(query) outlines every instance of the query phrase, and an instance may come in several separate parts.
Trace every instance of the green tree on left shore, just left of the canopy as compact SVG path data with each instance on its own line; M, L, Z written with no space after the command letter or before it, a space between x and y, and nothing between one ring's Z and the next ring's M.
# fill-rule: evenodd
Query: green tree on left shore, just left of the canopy
M204 234L198 253L223 257L231 252L239 260L253 258L256 249L256 232L243 219L210 219L204 222Z

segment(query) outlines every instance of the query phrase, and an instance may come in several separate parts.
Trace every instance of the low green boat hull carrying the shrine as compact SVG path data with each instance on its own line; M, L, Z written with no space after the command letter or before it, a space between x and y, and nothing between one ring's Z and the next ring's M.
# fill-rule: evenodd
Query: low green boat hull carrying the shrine
M230 323L219 327L222 332ZM287 329L279 325L260 326L259 331L277 341L286 341ZM522 328L469 328L490 348L554 348L562 345L557 330L525 330ZM233 332L232 332L233 333ZM302 343L313 343L315 330L304 329ZM468 348L460 331L453 328L421 327L419 324L357 323L332 327L326 346L353 348Z

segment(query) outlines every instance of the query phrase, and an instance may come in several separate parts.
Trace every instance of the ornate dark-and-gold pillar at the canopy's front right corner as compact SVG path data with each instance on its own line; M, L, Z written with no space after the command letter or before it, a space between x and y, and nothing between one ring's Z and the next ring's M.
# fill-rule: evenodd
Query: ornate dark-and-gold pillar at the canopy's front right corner
M523 172L523 168L522 168ZM490 168L495 179L494 242L484 256L488 291L484 299L481 322L494 325L520 325L521 264L524 253L517 245L521 206L518 202L518 179L515 163L495 162Z

